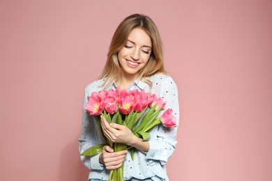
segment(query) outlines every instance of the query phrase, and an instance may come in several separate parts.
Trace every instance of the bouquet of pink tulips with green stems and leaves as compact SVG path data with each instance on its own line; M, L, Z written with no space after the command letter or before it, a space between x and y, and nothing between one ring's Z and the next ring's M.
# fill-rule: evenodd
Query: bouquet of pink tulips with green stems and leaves
M108 123L117 123L128 127L135 136L142 141L150 139L149 131L156 125L163 123L165 127L176 127L176 118L172 116L172 110L167 109L162 116L158 114L165 109L165 102L155 94L145 93L144 90L126 91L120 88L116 90L93 92L88 97L85 107L90 115L94 116L98 122L98 127L102 133L105 143L110 145L114 152L130 149L131 157L135 148L124 143L112 143L102 132L100 125L100 115L104 116ZM142 120L141 120L142 119ZM104 144L95 145L82 152L82 156L97 155L102 152ZM116 170L110 171L109 180L123 180L123 165Z

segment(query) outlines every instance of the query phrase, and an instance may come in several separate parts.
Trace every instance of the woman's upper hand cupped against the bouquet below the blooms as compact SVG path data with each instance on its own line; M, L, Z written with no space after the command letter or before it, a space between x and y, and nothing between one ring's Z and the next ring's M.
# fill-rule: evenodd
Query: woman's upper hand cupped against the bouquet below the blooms
M131 145L135 136L128 127L116 123L107 123L104 116L100 116L101 126L107 139L112 143L125 143Z

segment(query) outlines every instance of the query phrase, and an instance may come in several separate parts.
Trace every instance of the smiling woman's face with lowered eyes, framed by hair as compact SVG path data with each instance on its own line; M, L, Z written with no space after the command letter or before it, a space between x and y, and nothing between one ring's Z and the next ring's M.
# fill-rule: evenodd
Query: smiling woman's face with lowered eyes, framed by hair
M131 31L126 45L118 53L124 76L137 78L139 70L149 61L151 47L151 38L144 30L136 28Z

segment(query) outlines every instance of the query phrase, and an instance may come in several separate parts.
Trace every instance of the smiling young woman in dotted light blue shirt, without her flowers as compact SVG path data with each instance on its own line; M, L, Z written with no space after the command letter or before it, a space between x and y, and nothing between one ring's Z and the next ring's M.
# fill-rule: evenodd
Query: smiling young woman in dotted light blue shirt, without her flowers
M158 29L146 15L135 14L123 19L110 43L107 62L100 78L86 86L80 152L103 143L96 120L84 110L87 97L93 91L118 87L128 91L144 90L162 97L166 102L164 110L171 108L176 124L179 125L178 90L172 77L165 72L163 45ZM103 116L101 126L105 136L114 143L126 143L135 147L135 155L132 160L127 150L114 152L109 145L105 145L103 152L98 155L81 156L83 164L91 169L89 180L108 180L109 171L122 164L123 180L169 180L166 163L175 150L178 127L156 125L149 132L151 139L142 141L126 126L109 125Z

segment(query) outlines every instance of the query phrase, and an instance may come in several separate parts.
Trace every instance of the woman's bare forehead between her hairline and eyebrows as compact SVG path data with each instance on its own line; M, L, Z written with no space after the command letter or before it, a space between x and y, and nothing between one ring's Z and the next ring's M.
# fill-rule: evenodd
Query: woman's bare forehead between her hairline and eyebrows
M135 44L140 46L151 47L151 38L143 29L133 29L133 31L128 35L128 40L133 41Z

